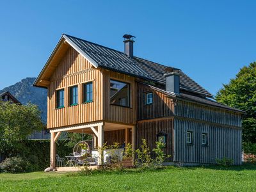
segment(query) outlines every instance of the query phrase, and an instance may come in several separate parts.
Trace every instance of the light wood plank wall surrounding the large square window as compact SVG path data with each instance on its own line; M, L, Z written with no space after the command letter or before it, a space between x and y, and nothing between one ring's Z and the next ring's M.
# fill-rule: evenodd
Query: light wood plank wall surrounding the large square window
M120 74L117 72L112 72L104 70L104 80L103 80L103 98L104 98L104 120L110 122L121 122L124 124L136 124L136 83L135 78L127 76L125 74ZM130 84L130 102L131 107L125 108L122 106L114 106L110 104L110 79L117 81L123 81Z

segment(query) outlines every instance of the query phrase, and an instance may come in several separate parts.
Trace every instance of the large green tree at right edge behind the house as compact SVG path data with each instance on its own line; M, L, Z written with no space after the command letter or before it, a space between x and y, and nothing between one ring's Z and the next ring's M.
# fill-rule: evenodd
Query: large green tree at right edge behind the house
M243 141L256 143L256 62L243 67L217 93L216 100L246 112L243 116Z

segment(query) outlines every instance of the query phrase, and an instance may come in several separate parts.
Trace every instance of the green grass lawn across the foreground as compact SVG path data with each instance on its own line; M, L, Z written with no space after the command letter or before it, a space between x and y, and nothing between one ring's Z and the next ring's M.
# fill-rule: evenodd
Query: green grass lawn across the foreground
M256 164L138 172L0 174L0 191L256 191Z

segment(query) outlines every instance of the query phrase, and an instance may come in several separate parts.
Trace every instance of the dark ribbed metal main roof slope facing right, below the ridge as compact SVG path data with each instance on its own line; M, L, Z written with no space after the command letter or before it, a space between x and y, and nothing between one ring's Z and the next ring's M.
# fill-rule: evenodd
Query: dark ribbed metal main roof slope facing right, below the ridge
M165 84L166 72L164 69L168 66L154 63L152 61L144 60L134 56L133 58L127 56L124 52L116 51L102 45L88 42L81 38L76 38L70 35L63 35L72 45L83 52L96 67L108 68L116 72L129 74L131 76L140 77L156 81L157 83ZM197 93L205 97L212 97L212 94L207 92L202 86L193 81L184 72L178 68L174 68L175 72L180 74L180 89L188 92Z

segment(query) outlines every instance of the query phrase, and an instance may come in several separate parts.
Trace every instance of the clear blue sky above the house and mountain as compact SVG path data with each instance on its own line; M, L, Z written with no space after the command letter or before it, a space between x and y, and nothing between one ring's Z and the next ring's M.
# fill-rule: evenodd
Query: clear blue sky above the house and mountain
M182 69L216 94L256 60L256 1L1 1L0 90L36 77L62 33Z

